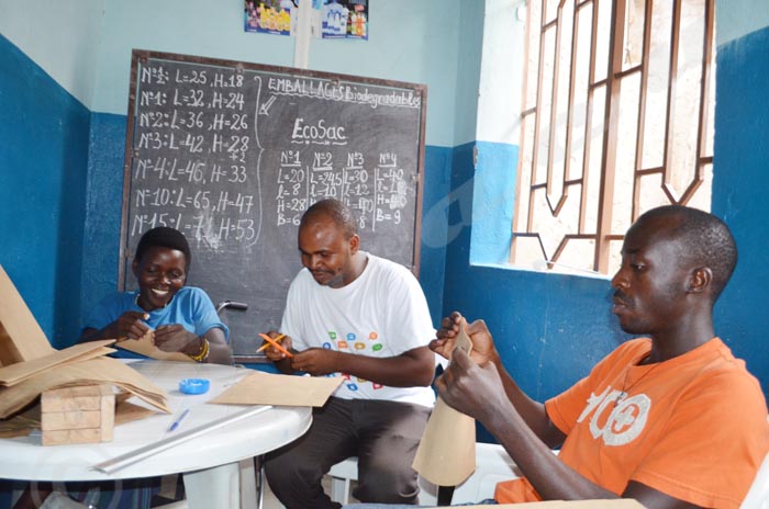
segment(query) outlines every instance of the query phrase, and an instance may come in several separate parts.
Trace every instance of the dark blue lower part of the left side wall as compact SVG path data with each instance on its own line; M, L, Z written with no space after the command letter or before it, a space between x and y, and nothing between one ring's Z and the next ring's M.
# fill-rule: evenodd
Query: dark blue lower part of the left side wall
M62 347L80 319L89 112L1 35L0 112L0 264Z

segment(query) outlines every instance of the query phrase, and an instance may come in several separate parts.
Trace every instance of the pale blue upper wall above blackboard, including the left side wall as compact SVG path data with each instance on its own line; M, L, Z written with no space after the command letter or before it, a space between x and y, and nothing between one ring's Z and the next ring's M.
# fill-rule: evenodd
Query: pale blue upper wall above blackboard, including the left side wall
M458 72L457 61L460 47L480 59L482 23L473 16L482 7L372 1L369 39L313 39L308 67L425 83L427 144L471 142L475 101L461 101L457 116L456 95L458 83L477 90L478 73ZM241 0L0 0L0 30L86 106L115 114L127 111L133 48L293 66L296 41L244 32Z

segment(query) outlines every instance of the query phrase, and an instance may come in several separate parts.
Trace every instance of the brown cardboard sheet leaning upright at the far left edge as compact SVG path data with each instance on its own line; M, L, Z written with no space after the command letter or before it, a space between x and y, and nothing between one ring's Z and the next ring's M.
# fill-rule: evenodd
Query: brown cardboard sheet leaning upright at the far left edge
M53 353L48 338L0 265L0 365Z

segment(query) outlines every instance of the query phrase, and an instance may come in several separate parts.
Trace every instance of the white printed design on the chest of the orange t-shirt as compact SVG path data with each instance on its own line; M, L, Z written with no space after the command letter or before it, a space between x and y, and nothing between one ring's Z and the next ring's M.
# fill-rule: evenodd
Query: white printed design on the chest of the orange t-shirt
M590 418L590 433L606 445L625 445L634 441L646 427L651 399L646 394L627 396L606 386L599 395L591 394L577 422Z

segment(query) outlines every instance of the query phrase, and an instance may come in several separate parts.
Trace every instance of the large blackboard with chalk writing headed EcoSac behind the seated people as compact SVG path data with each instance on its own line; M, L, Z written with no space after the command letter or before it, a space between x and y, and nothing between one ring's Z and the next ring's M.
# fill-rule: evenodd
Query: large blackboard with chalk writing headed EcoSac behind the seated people
M144 231L181 230L188 284L248 305L221 315L236 359L258 361L324 197L355 212L361 249L419 275L425 112L422 84L134 50L119 289L136 287Z

